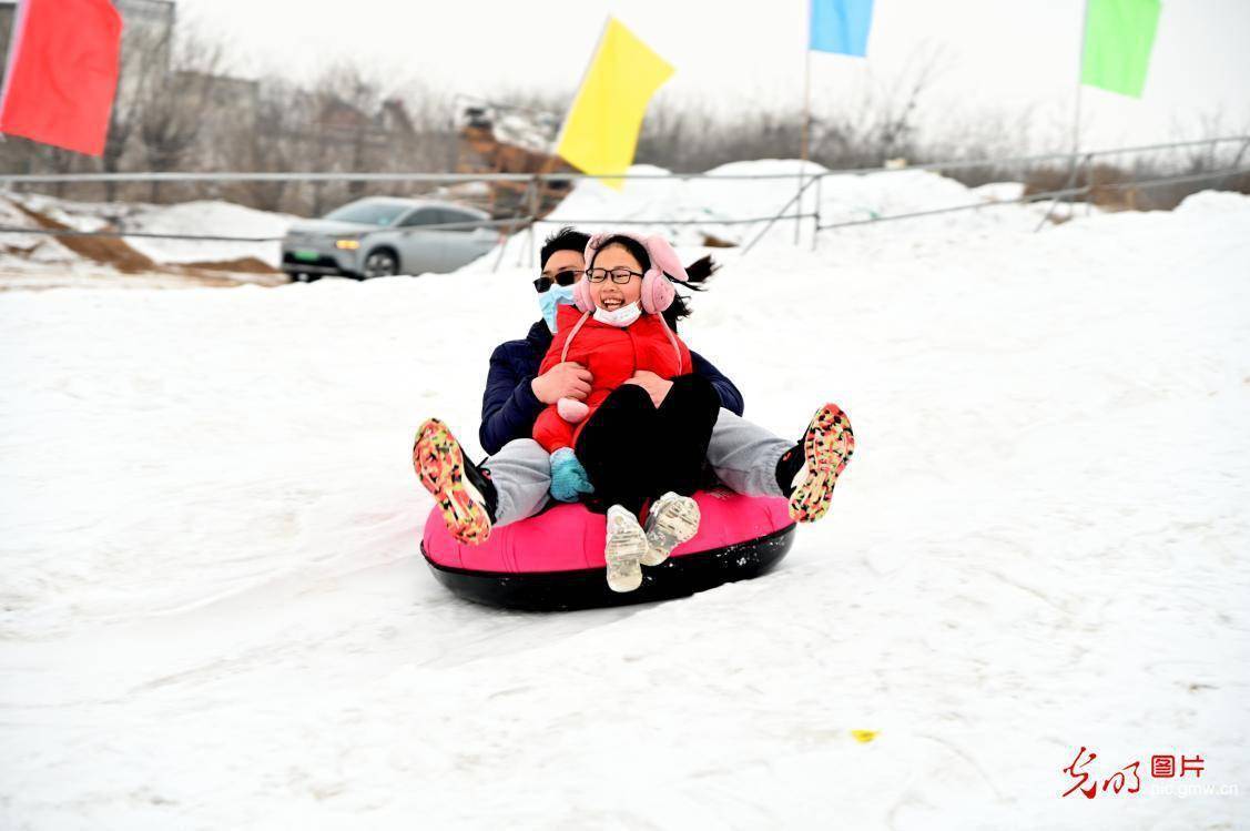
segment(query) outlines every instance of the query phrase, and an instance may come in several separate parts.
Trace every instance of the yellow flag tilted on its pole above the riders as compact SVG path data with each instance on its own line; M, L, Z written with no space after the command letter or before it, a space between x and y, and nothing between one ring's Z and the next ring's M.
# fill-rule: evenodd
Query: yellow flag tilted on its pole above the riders
M625 172L634 162L646 104L671 76L668 61L609 19L564 121L556 152L582 172ZM602 181L621 189L619 179Z

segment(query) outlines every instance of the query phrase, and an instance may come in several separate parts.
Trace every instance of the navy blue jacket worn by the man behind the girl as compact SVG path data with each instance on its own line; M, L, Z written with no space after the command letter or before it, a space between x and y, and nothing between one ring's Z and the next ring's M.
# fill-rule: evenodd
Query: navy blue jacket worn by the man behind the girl
M525 340L500 344L491 354L486 392L481 396L481 429L478 431L478 439L488 454L499 452L512 439L529 439L532 435L534 421L546 405L534 395L530 381L539 374L539 365L550 346L551 330L540 320L530 326ZM716 387L721 406L742 415L742 394L734 382L694 350L690 351L690 359L695 374L702 375Z

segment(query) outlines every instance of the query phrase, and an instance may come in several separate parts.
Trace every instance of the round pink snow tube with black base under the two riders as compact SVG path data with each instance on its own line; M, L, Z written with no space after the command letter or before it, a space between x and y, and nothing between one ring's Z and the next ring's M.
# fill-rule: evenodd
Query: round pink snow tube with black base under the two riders
M421 552L455 594L512 609L585 609L676 597L764 574L794 542L786 500L699 491L699 534L666 562L644 569L638 591L616 594L604 579L605 517L558 505L491 531L482 545L456 542L438 509Z

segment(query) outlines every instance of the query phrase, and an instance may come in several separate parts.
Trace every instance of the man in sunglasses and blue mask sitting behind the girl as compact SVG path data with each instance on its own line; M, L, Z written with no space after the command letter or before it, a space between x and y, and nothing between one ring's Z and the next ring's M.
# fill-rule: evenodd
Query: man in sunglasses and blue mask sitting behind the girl
M571 302L572 284L585 271L588 241L586 234L571 227L548 237L540 252L541 274L534 281L544 320L530 326L524 339L500 344L490 356L478 434L491 454L489 470L466 460L460 442L438 419L418 431L412 466L441 509L448 530L461 542L482 542L491 527L534 516L549 494L576 501L579 494L592 490L575 460L552 467L551 457L530 437L548 405L561 397L582 400L590 392L590 372L578 364L558 364L538 374L555 330L555 309L561 301ZM701 282L711 274L711 262L701 260L688 271L692 282ZM685 304L674 304L670 325L684 314ZM690 356L692 371L706 377L721 400L708 447L708 462L720 481L739 494L789 499L790 515L798 521L824 516L855 445L841 410L826 404L799 442L779 439L741 417L742 396L732 381L696 352ZM659 405L671 381L646 376L638 374L629 382L642 386Z

